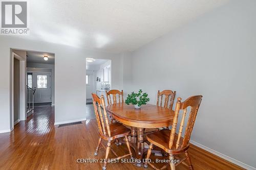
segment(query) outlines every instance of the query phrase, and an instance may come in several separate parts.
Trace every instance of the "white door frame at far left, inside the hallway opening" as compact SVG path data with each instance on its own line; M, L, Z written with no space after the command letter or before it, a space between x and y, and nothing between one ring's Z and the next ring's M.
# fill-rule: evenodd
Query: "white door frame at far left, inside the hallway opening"
M11 75L11 84L12 84L12 95L11 95L11 115L12 121L10 130L14 128L14 58L19 60L19 119L15 124L20 120L26 120L26 59L20 57L16 53L12 52L12 75Z

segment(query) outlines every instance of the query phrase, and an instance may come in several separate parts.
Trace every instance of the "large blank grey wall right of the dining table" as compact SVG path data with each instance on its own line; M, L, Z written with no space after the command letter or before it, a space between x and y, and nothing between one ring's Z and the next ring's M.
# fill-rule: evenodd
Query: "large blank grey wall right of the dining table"
M231 1L139 48L132 53L133 86L124 89L143 89L153 104L157 90L176 90L183 100L202 94L191 139L253 167L255 7L256 1Z

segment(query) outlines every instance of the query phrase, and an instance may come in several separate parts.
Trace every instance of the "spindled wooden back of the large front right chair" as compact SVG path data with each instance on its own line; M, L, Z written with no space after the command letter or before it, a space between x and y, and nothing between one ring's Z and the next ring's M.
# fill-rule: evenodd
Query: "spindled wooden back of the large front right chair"
M169 149L172 149L173 147L175 147L176 150L178 150L179 147L180 147L180 149L182 149L182 148L186 147L187 144L189 143L190 135L191 135L191 132L192 132L194 124L195 124L197 112L198 112L199 106L201 104L202 97L203 97L202 95L191 96L184 102L181 102L181 98L177 99L172 130L170 132L170 138L169 138ZM183 131L183 127L185 124L185 117L187 115L188 107L190 107L189 117L187 120L184 137L181 140L182 131ZM183 113L182 113L182 118L181 118L181 122L180 122L180 127L178 130L178 133L176 134L176 128L177 128L178 116L179 116L180 110L183 110ZM177 138L176 145L174 145L175 137Z

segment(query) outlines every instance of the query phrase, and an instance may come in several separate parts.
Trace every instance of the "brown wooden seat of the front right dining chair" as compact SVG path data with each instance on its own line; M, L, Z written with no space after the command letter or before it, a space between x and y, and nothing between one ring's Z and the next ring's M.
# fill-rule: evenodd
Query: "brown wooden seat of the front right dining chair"
M172 147L172 149L169 149L170 131L171 130L169 130L169 129L162 129L160 131L156 131L154 133L148 134L146 136L146 138L149 142L153 143L154 145L163 149L165 152L167 152L169 154L176 154L176 153L179 153L182 150L187 150L188 147L189 147L189 144L187 144L186 147L184 147L181 150L183 137L180 138L179 148L176 149L176 142L177 142L178 134L175 134L173 147Z

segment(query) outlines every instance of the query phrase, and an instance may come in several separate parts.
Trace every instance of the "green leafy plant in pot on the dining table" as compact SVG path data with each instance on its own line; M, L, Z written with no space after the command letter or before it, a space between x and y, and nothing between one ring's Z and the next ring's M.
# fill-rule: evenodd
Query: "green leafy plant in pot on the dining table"
M150 98L147 98L147 93L142 93L140 89L138 93L132 92L132 94L128 94L125 100L127 105L134 105L135 109L140 109L141 105L145 105L150 101Z

